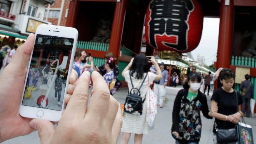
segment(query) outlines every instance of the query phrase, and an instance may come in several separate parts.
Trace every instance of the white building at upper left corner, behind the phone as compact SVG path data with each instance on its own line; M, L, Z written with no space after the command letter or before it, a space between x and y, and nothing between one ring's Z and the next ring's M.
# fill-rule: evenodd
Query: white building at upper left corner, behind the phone
M0 47L21 45L43 20L45 6L53 0L0 0Z

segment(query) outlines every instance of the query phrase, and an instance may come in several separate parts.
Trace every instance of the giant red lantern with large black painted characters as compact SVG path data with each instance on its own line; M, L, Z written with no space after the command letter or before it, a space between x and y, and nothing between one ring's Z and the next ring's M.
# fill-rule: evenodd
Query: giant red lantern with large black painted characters
M147 8L147 43L158 50L190 52L201 39L204 14L197 0L151 0Z

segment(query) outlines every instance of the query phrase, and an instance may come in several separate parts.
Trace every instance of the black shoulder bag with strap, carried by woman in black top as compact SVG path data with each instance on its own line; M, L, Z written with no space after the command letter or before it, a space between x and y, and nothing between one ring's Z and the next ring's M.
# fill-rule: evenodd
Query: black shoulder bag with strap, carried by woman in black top
M236 90L235 90L235 94L237 97ZM238 99L237 99L237 111L238 111ZM237 128L236 128L237 125L235 125L235 127L231 129L219 129L217 128L216 122L214 125L216 128L216 138L218 143L223 144L223 143L231 143L231 142L238 141Z

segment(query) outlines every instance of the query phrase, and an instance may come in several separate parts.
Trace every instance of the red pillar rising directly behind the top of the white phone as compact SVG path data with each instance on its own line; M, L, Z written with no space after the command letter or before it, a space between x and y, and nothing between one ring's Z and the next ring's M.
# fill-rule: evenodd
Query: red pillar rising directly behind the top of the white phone
M72 27L72 28L76 27L76 19L77 19L77 15L78 15L78 7L79 7L78 0L70 1L69 13L68 13L68 17L66 18L66 26Z

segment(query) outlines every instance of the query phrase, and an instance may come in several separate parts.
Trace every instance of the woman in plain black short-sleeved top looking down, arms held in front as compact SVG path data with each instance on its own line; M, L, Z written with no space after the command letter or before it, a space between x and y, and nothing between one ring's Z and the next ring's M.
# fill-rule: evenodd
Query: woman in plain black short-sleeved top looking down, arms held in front
M234 128L242 116L240 105L243 103L242 96L232 88L235 81L235 73L231 69L223 68L218 77L223 86L213 91L211 97L211 115L215 118L217 128ZM218 106L218 112L213 110L216 106ZM218 144L215 125L213 125L213 143ZM236 142L228 144L236 144Z

